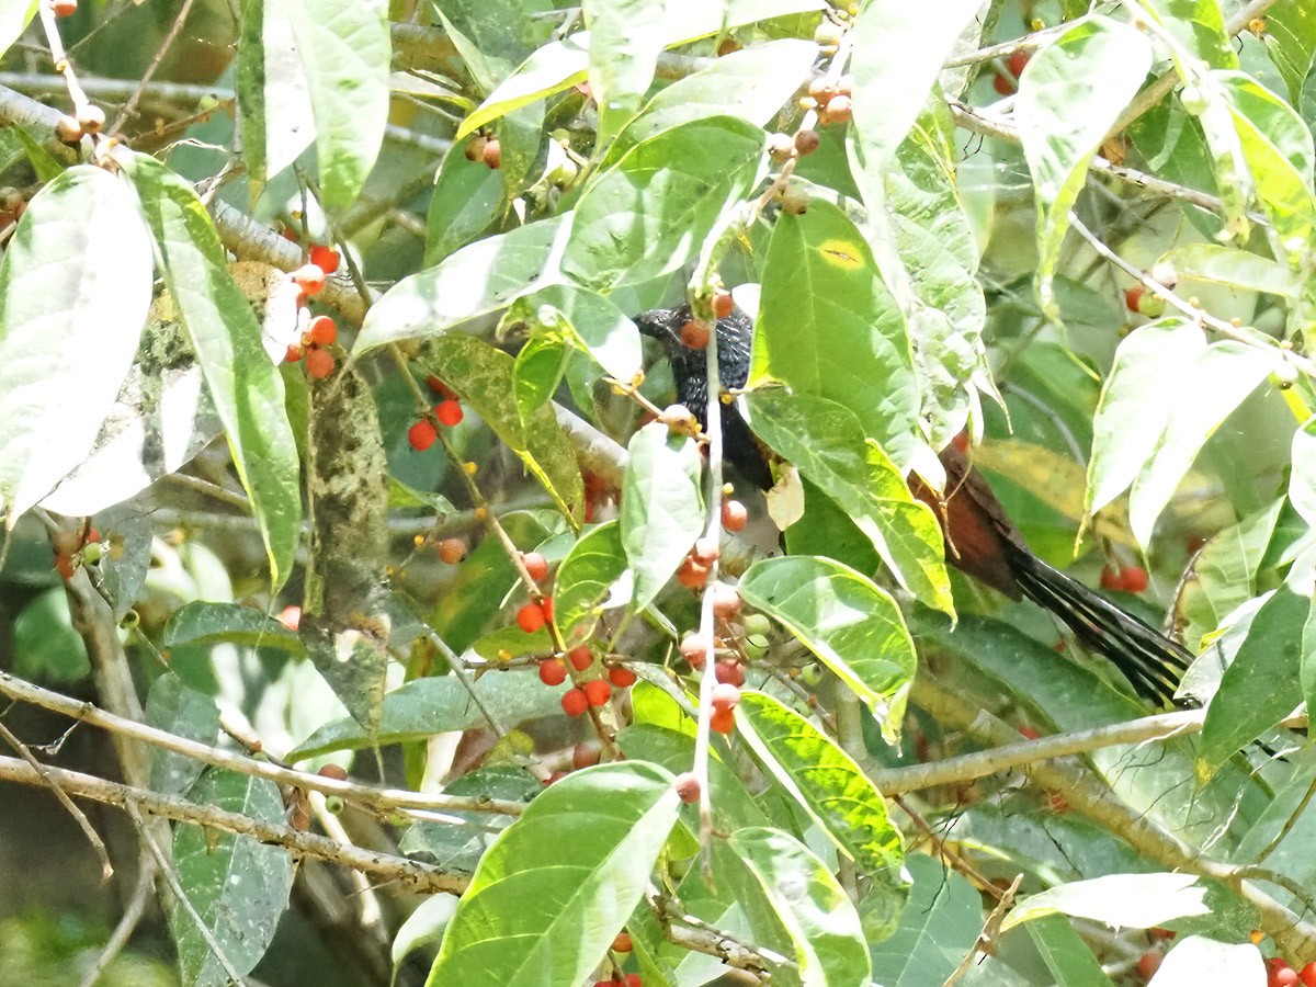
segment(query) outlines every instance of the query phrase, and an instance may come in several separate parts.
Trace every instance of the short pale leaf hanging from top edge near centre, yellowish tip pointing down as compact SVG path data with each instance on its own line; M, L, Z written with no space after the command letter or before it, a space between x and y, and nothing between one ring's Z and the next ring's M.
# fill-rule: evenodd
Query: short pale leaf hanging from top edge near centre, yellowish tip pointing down
M666 46L663 4L649 0L584 0L590 29L590 92L599 105L599 146L640 111Z

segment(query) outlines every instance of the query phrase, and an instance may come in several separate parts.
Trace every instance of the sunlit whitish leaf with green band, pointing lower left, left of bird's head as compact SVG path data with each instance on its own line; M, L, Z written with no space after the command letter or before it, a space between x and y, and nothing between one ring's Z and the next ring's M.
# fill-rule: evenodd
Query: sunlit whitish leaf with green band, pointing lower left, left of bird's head
M554 258L569 229L569 216L540 220L486 237L437 267L403 278L366 315L353 357L401 340L442 336L467 318L555 284L561 275Z

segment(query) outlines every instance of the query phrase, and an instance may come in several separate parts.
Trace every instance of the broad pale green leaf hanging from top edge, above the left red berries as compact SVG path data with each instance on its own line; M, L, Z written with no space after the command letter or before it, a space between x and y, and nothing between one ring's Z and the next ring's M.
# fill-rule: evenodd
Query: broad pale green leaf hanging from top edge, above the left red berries
M290 0L286 9L316 121L320 199L329 209L346 209L366 184L388 124L386 8L361 0Z

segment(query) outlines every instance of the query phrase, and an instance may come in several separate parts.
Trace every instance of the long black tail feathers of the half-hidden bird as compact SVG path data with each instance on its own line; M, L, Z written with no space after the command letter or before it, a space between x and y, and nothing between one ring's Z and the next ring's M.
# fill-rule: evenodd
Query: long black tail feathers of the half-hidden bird
M1084 647L1111 661L1140 695L1162 705L1175 703L1174 692L1192 663L1186 647L1036 555L1023 550L1011 555L1015 579L1033 603L1065 621Z

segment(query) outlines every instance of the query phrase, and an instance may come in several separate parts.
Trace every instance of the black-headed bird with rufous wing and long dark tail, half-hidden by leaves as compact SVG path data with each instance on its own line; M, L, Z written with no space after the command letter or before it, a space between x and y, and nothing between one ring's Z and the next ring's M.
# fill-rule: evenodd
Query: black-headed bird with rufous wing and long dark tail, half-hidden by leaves
M682 342L690 322L688 304L658 308L634 317L644 336L657 340L671 363L676 400L703 426L708 407L708 365L703 349ZM754 322L741 308L717 320L717 372L726 390L745 387L749 379ZM722 451L740 475L769 490L772 471L765 446L754 437L736 405L722 416ZM946 562L1012 600L1028 597L1061 620L1088 651L1119 669L1134 691L1157 705L1182 705L1175 691L1192 654L1096 591L1037 558L1019 526L1005 513L986 476L955 443L940 453L946 470L946 494L941 495L919 476L908 478L911 492L925 503L941 522Z

